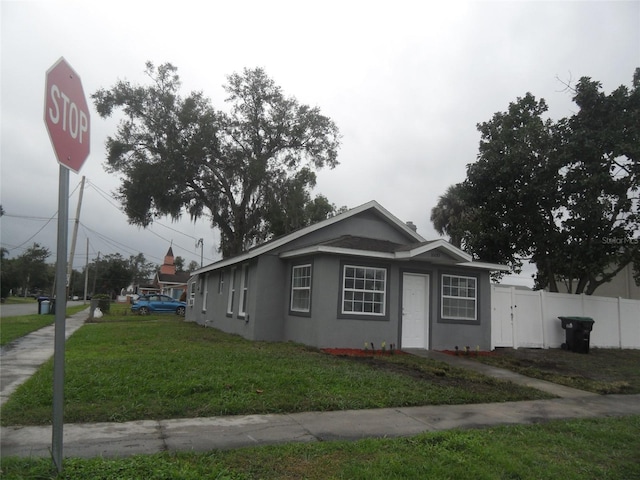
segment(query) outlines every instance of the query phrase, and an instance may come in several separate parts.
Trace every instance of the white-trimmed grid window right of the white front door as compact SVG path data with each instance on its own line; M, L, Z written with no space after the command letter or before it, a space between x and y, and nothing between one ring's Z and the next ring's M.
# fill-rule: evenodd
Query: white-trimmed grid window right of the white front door
M442 318L476 320L478 280L475 277L442 275Z

